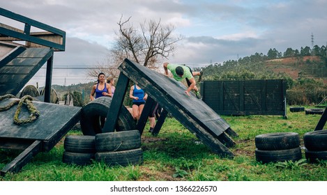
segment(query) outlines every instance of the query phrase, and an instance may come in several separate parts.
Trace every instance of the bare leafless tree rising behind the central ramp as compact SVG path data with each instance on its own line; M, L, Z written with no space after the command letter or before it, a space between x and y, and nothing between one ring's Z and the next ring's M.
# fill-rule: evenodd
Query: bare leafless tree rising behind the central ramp
M162 25L161 20L139 24L140 30L130 24L130 18L117 23L119 31L117 39L111 49L114 61L120 62L128 58L149 68L154 68L160 59L168 59L176 49L175 43L182 39L173 36L174 26Z

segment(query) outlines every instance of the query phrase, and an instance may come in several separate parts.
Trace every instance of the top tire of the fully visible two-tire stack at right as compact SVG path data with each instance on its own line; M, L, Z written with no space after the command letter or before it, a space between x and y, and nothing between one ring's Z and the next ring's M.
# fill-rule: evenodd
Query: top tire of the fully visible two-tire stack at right
M254 141L258 150L287 150L300 146L300 137L295 132L259 134Z

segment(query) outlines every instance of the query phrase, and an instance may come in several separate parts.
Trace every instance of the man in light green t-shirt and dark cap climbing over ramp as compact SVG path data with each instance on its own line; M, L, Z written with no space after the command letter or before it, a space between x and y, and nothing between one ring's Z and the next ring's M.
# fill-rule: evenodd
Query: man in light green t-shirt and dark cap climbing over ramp
M188 89L185 91L187 95L190 96L190 91L193 89L195 91L195 95L197 95L197 98L201 98L199 89L197 86L195 86L197 83L195 82L195 79L193 76L199 76L199 81L202 79L202 71L201 72L192 72L190 67L186 65L179 65L174 63L164 63L163 67L165 69L165 74L168 76L168 70L172 72L172 75L176 81L181 81L183 79L186 79L186 82L188 83Z

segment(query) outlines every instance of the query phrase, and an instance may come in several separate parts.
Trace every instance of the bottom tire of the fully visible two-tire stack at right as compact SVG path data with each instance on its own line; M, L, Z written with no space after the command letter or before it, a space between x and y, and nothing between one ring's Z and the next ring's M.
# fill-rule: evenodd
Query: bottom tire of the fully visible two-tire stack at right
M255 157L257 162L284 162L284 161L298 161L302 158L301 148L291 148L288 150L255 150Z

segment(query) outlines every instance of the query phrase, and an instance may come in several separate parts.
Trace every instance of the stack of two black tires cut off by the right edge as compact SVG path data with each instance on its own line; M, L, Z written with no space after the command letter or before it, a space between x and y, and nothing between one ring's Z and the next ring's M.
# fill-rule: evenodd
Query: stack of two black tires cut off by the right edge
M305 158L309 162L327 159L327 130L307 132L303 135Z

